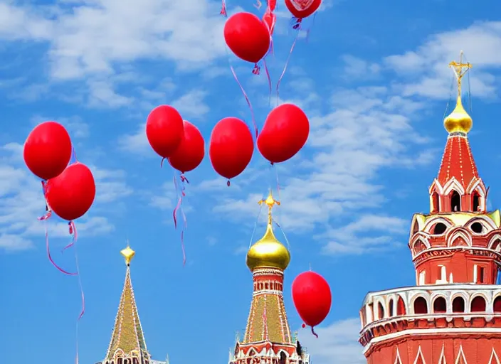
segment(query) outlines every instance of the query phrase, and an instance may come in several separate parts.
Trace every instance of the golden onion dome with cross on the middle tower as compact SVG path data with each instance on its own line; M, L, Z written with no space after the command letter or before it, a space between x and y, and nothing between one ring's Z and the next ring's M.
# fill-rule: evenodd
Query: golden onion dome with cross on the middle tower
M258 268L278 268L285 270L290 262L289 250L278 241L273 233L273 219L271 210L273 205L280 205L280 202L270 195L260 203L268 205L268 226L265 235L255 242L247 252L246 263L251 271Z

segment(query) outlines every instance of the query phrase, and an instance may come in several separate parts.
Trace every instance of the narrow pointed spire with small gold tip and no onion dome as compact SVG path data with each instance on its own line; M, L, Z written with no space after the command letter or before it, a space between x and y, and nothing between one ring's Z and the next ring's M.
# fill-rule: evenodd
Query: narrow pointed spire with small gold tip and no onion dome
M130 262L135 256L135 251L129 245L120 252L125 258L127 270L125 283L120 296L115 326L113 326L110 346L106 352L105 364L166 364L151 360L144 341L144 333L139 321L134 290L130 279Z

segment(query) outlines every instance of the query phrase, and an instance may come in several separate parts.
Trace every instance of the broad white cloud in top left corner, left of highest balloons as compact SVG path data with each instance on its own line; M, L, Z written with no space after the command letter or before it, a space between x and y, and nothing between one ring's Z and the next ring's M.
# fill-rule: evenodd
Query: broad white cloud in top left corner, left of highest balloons
M2 3L0 38L48 42L51 75L63 80L110 74L115 63L144 58L204 68L224 54L217 7L203 0L83 0L43 14Z

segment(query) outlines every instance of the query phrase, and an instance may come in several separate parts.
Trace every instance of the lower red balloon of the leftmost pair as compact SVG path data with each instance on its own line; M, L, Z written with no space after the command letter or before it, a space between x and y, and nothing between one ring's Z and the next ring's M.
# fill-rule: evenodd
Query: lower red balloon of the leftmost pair
M93 205L95 181L88 166L76 162L46 183L49 207L64 220L76 220Z

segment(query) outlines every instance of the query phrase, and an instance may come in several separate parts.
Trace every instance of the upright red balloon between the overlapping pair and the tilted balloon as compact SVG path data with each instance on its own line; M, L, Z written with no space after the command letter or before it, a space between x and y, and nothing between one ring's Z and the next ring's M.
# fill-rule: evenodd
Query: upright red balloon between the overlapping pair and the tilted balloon
M254 141L245 122L236 117L220 120L212 129L209 158L214 171L228 179L238 176L252 159Z

